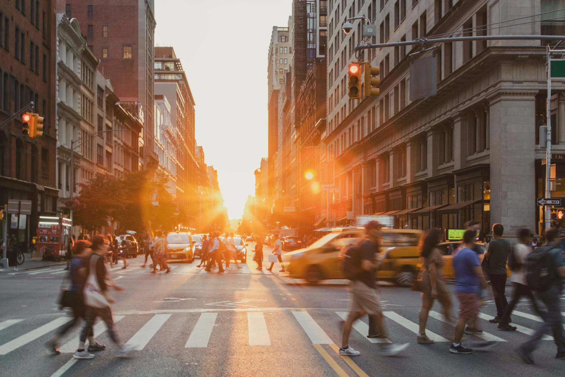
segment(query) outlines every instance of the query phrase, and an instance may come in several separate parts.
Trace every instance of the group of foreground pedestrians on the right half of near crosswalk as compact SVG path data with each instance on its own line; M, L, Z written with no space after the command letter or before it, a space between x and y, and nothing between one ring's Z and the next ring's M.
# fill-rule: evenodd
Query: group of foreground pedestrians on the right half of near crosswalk
M339 353L344 356L357 356L360 353L349 346L349 335L353 322L363 314L369 315L369 337L388 338L380 306L375 272L379 270L386 252L379 249L380 228L383 226L375 221L367 224L366 236L357 245L350 247L345 255L348 263L358 265L358 271L350 272L349 315L344 321L342 344ZM472 342L471 347L463 345L464 334L480 335L479 311L487 296L486 289L490 287L496 304L497 315L489 320L496 324L497 330L515 331L512 326L511 313L521 297L528 297L533 308L543 320L543 323L525 343L518 346L515 352L526 363L533 363L532 353L546 331L551 330L557 345L555 358L565 359L565 333L562 328L560 313L560 294L565 279L565 254L560 245L558 229L550 228L545 232L546 244L533 249L532 232L520 229L519 242L510 245L503 237L502 224L494 224L493 240L489 242L488 250L484 252L483 261L479 255L483 248L476 244L477 230L480 224L470 222L463 235L460 247L453 252L453 268L455 272L454 293L459 301L458 319L455 324L455 336L449 352L469 354L473 348L489 350L496 345L494 341ZM425 331L428 314L435 300L443 308L445 322L451 323L451 293L442 275L445 260L438 248L444 232L431 229L425 233L420 242L423 268L419 278L414 283L414 291L421 292L421 308L419 314L419 331L416 334L417 343L432 344ZM349 258L349 261L347 261ZM511 270L510 281L515 285L512 300L506 299L506 279L508 275L507 262ZM344 267L344 270L348 267ZM351 268L351 267L349 267ZM347 274L347 272L346 272ZM540 302L545 310L540 310ZM383 344L380 353L384 356L397 354L406 349L408 344Z

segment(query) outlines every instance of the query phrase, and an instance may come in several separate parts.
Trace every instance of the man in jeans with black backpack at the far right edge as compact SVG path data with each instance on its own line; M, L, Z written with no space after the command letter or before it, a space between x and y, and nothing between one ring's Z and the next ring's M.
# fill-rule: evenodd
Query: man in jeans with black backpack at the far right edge
M565 279L565 262L563 261L563 252L559 248L558 229L547 229L545 239L547 243L529 253L525 262L528 287L536 292L536 296L546 306L544 323L537 328L527 341L516 348L516 353L528 364L533 364L532 352L549 329L551 329L555 345L557 345L555 358L565 359L565 334L561 324L559 302L563 279Z

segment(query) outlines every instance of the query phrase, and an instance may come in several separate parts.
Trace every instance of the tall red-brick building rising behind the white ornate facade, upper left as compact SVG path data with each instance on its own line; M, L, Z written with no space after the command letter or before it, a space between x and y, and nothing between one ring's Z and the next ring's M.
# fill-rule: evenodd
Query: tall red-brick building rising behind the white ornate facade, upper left
M158 164L154 152L154 1L58 0L57 11L79 20L100 70L123 106L144 121L141 166ZM128 74L124 74L128 72Z

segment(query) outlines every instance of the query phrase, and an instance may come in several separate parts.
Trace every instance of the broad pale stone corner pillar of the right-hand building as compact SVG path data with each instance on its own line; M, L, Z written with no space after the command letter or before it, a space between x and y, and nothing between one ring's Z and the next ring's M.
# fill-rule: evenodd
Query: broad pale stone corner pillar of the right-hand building
M532 179L536 94L504 92L490 101L491 143L496 145L490 151L490 224L504 224L508 238L516 237L520 228L537 231Z

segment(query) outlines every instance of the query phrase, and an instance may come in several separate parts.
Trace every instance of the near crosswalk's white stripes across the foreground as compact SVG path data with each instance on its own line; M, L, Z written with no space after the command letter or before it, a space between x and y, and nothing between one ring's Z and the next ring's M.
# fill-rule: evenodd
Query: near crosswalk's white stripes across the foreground
M281 331L281 326L277 324L281 321L285 323L290 323L290 326L294 326L289 331L288 328L282 330L284 334L288 334L292 336L295 331L301 331L302 339L308 339L308 342L311 344L338 344L340 341L339 331L336 332L336 324L338 323L338 319L345 319L347 317L347 313L344 311L324 311L323 314L319 313L319 310L315 313L310 313L307 310L291 310L292 316L289 315L288 310L279 310L279 311L272 311L267 312L271 321L266 320L266 316L263 311L247 311L246 318L247 318L247 326L246 326L246 335L244 335L245 331L242 330L244 325L240 327L240 331L237 331L236 336L244 337L242 338L242 342L248 344L249 346L273 346L277 345L277 341L280 342L280 333L275 333L277 331ZM181 322L193 322L195 321L193 326L188 325L188 337L186 337L186 343L184 348L208 348L210 346L210 339L211 337L217 337L219 333L217 331L224 331L219 330L218 326L222 323L233 323L234 318L231 316L238 315L234 311L220 311L220 312L211 312L211 311L202 311L202 313L157 313L150 315L147 318L147 315L138 315L138 314L128 314L128 315L115 315L114 321L117 323L116 327L120 332L120 326L124 323L124 326L127 328L133 328L134 333L129 337L127 340L127 344L134 346L135 350L144 350L148 344L154 339L154 337L162 331L164 327L167 326L175 326L175 323ZM405 316L398 314L395 311L384 311L383 313L386 317L385 323L389 328L390 335L393 339L398 338L405 338L411 339L415 333L418 332L418 324L412 321L410 318L406 318ZM521 311L514 311L513 315L516 318L524 319L527 321L533 321L531 323L531 327L521 326L520 324L512 323L514 326L518 327L518 333L516 332L501 332L499 335L493 335L488 332L483 332L481 335L476 335L478 339L483 340L493 340L499 342L506 342L512 338L512 341L516 341L516 337L521 337L518 339L519 341L524 341L526 339L525 335L531 335L534 332L534 328L538 324L537 318L535 316L532 317L531 314L523 313ZM563 313L565 316L565 313ZM273 317L275 316L275 317ZM280 317L280 318L279 318ZM242 317L238 317L239 320L242 320ZM490 319L492 316L487 314L481 314L481 319ZM49 339L50 336L53 336L53 333L56 329L60 326L63 326L67 322L71 320L70 317L58 317L55 319L51 319L46 323L37 324L36 328L30 328L32 326L32 319L22 319L22 318L12 318L12 319L5 319L0 321L0 342L5 341L5 343L0 344L0 356L5 356L16 350L24 347L27 349L29 344L32 344L35 341L40 341L44 343L46 339ZM437 320L437 323L432 323L433 321ZM449 324L449 326L454 326L454 321L447 321L445 320L440 313L436 311L430 311L429 319L428 319L428 328L434 328L434 330L438 331L438 328L442 328L439 326L440 324ZM35 324L35 322L33 322ZM14 330L17 327L17 330ZM362 338L362 342L369 342L369 343L390 343L388 339L375 339L375 338L368 338L366 335L368 334L368 324L363 322L362 320L358 320L354 323L353 326L356 339ZM299 330L301 329L301 330ZM106 326L103 322L98 322L94 325L94 336L99 337L105 335ZM62 353L72 353L75 351L76 346L79 342L79 331L80 329L77 328L73 330L73 333L67 336L60 345L60 352ZM169 328L167 331L174 331L178 332L176 328ZM166 331L166 332L167 332ZM445 330L444 330L445 331ZM23 332L23 333L20 333ZM328 332L332 334L332 336L328 335ZM185 332L182 332L184 335ZM427 335L435 340L436 342L444 342L447 343L450 341L449 337L452 336L448 334L439 334L436 332L432 332L427 330ZM225 335L221 333L221 335ZM273 338L273 335L275 337ZM232 335L234 336L234 335ZM352 335L353 336L353 335ZM470 336L472 339L475 335ZM277 339L277 341L273 341L273 339ZM298 336L294 337L293 341L299 339ZM553 340L552 336L545 335L543 340ZM359 341L359 340L357 340ZM280 344L279 344L280 345ZM0 358L1 360L1 358Z

